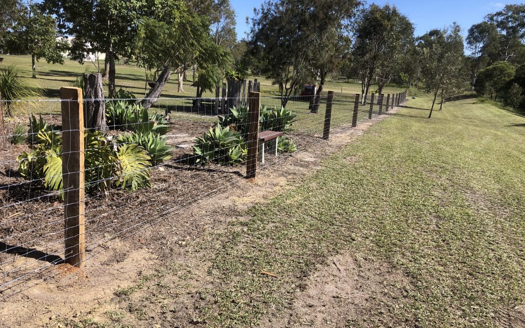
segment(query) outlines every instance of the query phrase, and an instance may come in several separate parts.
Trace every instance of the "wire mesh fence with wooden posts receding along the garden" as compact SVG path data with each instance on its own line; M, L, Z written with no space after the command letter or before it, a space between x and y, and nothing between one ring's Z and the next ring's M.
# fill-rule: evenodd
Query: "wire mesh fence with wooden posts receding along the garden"
M280 97L250 91L231 108L217 98L160 98L146 108L145 99L82 99L62 88L57 100L3 101L21 114L7 120L0 156L0 299L82 269L113 242L405 99L406 91L329 92L281 108ZM105 125L85 121L93 108Z

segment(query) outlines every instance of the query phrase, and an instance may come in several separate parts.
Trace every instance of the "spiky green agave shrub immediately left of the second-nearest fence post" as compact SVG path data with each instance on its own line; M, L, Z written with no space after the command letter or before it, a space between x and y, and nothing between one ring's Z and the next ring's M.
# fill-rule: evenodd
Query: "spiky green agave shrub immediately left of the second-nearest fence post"
M196 163L205 165L212 161L217 164L240 164L244 161L247 149L240 134L228 127L217 124L202 138L197 138L193 146Z

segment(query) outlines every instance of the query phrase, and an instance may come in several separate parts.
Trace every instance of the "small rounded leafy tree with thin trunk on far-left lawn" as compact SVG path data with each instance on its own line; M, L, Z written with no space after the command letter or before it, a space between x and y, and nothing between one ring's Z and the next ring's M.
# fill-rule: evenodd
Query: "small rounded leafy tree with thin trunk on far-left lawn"
M20 8L20 15L12 27L8 42L10 50L31 55L33 78L36 78L35 61L45 58L53 64L64 64L62 51L67 44L56 38L56 22L43 14L37 5L28 4Z

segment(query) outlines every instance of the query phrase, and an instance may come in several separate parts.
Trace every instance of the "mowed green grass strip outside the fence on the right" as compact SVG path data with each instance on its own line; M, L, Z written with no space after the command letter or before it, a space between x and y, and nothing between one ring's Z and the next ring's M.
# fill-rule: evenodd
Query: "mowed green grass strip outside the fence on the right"
M222 284L204 292L207 325L256 325L341 252L385 263L410 285L390 304L372 298L349 326L497 326L512 316L525 296L525 118L473 102L428 120L426 99L408 101L415 108L214 235L209 272Z

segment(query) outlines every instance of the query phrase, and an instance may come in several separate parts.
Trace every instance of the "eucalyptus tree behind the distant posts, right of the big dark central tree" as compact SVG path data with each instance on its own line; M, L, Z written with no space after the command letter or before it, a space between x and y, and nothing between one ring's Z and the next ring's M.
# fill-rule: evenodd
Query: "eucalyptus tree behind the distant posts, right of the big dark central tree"
M381 93L401 66L413 44L414 27L395 6L372 4L361 11L355 32L354 58L361 79L361 93L369 93L374 76ZM363 97L363 100L365 98Z

